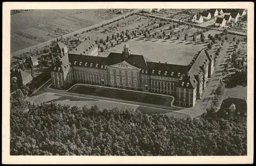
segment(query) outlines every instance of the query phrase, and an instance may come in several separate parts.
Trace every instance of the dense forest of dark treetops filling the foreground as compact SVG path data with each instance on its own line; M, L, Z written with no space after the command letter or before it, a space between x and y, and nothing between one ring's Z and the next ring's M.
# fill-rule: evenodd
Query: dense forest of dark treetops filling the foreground
M11 100L11 155L246 155L245 123ZM15 99L16 98L16 99ZM23 111L26 110L27 111ZM23 110L22 110L23 109Z

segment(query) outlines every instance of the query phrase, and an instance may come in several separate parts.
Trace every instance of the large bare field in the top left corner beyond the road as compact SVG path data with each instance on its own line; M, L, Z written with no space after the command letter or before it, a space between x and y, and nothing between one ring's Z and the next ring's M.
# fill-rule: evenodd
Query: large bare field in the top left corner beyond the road
M129 10L123 10L123 13ZM11 15L11 53L118 16L116 10L29 10Z

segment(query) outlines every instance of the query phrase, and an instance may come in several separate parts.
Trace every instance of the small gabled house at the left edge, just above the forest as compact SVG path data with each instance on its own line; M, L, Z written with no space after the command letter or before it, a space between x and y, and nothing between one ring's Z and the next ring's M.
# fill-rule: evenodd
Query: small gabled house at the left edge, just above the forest
M13 70L11 73L11 82L17 88L22 88L33 80L31 74L21 69Z

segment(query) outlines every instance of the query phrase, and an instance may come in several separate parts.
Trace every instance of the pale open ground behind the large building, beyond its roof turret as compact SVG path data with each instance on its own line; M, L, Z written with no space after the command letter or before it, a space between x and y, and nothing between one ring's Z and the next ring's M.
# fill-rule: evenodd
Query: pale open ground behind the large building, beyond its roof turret
M131 54L143 55L150 61L187 65L199 51L206 48L208 42L207 40L204 43L199 40L197 42L190 40L190 38L187 41L184 41L184 38L177 40L174 37L168 40L144 39L143 36L140 36L132 38L127 43L129 44ZM100 56L106 57L111 52L122 53L123 45L124 43L122 42L114 47L110 47L108 50L100 53Z

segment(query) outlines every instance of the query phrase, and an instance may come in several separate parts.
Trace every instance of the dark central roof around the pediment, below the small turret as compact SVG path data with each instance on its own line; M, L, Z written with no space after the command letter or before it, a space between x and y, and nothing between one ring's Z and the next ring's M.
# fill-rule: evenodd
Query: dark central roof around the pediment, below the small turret
M126 61L127 63L144 70L147 69L147 64L145 62L143 55L135 54L131 54L129 58L125 58L121 53L110 53L109 56L106 57L105 60L102 62L102 64L112 65L122 61Z

